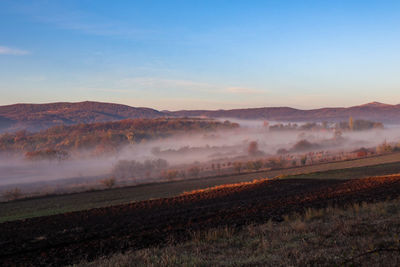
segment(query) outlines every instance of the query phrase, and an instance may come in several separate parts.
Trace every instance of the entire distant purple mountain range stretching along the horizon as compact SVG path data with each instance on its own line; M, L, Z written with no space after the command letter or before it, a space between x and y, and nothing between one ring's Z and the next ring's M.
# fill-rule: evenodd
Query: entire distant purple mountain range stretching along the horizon
M329 121L368 119L400 123L400 105L372 102L349 108L301 110L290 107L265 107L230 110L158 111L101 102L15 104L0 106L0 131L26 129L38 131L54 125L117 121L128 118L209 117L274 121Z

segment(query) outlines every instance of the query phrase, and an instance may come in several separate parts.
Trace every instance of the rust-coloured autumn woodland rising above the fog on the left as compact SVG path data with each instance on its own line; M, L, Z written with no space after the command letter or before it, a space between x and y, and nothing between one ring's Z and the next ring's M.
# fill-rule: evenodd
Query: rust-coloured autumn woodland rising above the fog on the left
M196 118L128 119L116 122L54 126L38 133L19 131L0 135L0 151L96 149L98 153L126 144L239 127L229 121Z

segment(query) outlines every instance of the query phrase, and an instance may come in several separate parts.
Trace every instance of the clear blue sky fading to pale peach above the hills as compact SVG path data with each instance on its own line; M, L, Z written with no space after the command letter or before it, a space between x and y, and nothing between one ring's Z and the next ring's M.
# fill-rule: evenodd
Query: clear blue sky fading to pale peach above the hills
M400 1L0 0L0 105L400 103Z

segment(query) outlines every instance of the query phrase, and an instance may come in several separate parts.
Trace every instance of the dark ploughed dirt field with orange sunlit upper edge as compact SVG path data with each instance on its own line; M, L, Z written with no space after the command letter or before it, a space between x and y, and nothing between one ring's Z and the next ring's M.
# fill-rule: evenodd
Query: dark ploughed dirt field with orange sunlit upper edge
M307 208L396 198L400 176L283 179L0 224L0 262L66 265L174 240L191 231L281 221Z

